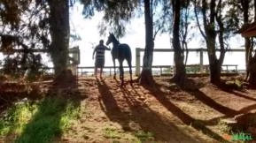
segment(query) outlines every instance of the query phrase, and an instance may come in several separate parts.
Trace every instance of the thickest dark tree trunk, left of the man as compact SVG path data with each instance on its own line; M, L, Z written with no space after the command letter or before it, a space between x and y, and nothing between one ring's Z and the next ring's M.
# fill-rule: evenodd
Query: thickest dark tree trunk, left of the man
M50 6L50 56L55 74L67 69L69 47L69 0L48 0ZM65 77L64 77L65 78Z

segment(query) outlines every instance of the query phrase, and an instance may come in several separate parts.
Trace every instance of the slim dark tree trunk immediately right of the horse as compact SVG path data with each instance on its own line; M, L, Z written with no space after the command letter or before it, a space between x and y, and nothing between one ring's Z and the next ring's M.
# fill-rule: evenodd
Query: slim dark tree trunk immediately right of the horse
M140 77L140 84L151 86L154 82L152 77L152 62L153 62L153 18L151 12L151 0L144 0L144 19L145 19L145 51L143 71Z

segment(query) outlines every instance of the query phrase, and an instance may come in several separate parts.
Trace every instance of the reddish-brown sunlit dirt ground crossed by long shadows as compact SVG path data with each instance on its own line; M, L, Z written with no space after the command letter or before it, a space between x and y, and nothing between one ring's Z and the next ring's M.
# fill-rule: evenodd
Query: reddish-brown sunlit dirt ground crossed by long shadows
M216 87L193 78L182 90L170 78L155 77L157 87L119 87L112 77L81 77L81 119L61 142L229 142L221 120L256 109L252 89ZM255 137L256 138L256 137ZM232 141L230 141L232 142Z

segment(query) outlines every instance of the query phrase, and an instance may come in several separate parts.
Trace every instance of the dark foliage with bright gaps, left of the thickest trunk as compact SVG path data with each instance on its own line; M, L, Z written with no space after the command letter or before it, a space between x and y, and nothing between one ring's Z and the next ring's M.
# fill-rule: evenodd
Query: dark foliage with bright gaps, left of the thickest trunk
M33 50L46 49L50 45L47 7L35 6L31 0L3 0L0 4L0 50L7 55L3 71L19 77L29 69L28 76L35 79L35 75L42 72L39 69L43 64L41 59L36 59L38 55Z

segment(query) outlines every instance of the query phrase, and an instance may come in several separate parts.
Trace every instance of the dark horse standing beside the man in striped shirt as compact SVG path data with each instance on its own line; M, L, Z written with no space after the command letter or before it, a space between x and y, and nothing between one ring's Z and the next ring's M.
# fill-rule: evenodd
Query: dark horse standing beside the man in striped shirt
M109 33L108 39L106 41L106 45L110 44L112 42L112 62L113 62L113 68L114 68L114 75L113 79L115 79L115 59L118 59L119 61L119 69L120 69L120 86L122 87L124 82L123 82L123 61L126 59L128 62L128 67L129 67L129 73L130 73L130 85L132 85L132 69L131 69L131 61L132 61L132 54L131 50L128 46L128 44L125 43L120 43L113 34Z

